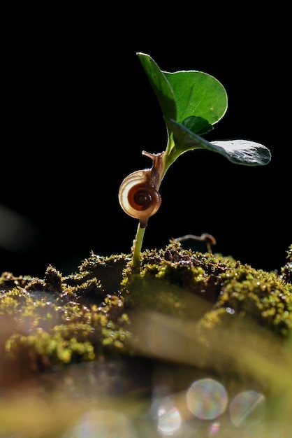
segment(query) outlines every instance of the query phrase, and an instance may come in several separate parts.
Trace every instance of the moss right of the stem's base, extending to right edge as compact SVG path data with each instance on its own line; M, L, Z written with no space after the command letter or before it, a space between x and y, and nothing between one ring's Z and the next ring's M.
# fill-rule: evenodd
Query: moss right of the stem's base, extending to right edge
M122 292L133 308L201 318L214 327L248 318L277 334L292 326L292 288L275 272L256 270L231 258L194 253L173 243L166 250L145 251L140 272L124 270ZM186 292L210 303L191 309Z

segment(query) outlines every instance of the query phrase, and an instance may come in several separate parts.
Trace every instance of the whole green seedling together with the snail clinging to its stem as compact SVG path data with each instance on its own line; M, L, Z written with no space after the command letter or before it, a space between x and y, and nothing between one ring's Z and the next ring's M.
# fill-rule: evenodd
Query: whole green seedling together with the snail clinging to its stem
M142 154L151 158L152 167L127 176L119 188L119 204L139 220L133 241L133 267L138 267L148 219L161 205L159 188L166 171L188 150L208 149L224 155L234 164L265 166L270 150L249 140L207 141L207 134L224 116L228 106L224 86L202 71L161 71L149 55L137 53L150 85L159 101L166 122L167 145L161 153Z

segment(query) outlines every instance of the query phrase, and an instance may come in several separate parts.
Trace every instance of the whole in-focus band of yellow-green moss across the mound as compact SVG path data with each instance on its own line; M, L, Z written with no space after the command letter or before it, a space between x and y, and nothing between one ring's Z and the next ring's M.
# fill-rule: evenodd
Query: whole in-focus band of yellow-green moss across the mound
M184 250L173 242L145 250L139 271L131 257L91 253L78 271L44 278L0 278L0 351L22 368L42 370L131 353L131 316L155 311L196 324L196 330L252 321L279 337L292 327L290 264L281 274L232 257Z

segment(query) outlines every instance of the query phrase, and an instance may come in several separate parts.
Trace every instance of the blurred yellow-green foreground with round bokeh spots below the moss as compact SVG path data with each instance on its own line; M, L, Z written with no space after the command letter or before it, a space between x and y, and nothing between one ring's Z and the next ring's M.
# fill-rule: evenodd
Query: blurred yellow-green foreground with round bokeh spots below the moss
M291 341L241 330L205 341L202 358L191 321L137 313L133 357L56 367L2 389L0 437L289 438ZM212 358L225 364L221 376L205 367Z

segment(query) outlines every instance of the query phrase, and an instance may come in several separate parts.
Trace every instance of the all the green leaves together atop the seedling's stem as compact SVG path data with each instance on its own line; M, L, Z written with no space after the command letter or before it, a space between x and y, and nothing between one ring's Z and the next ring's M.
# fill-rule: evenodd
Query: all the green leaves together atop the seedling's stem
M161 71L152 57L142 52L137 55L159 101L168 131L163 176L182 153L200 148L224 155L235 164L263 166L270 162L270 150L254 141L209 142L200 136L210 132L226 113L228 98L219 80L196 70Z

